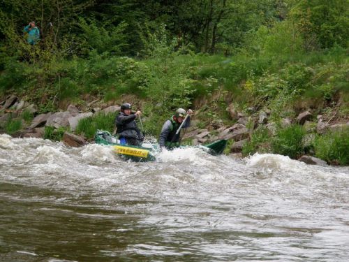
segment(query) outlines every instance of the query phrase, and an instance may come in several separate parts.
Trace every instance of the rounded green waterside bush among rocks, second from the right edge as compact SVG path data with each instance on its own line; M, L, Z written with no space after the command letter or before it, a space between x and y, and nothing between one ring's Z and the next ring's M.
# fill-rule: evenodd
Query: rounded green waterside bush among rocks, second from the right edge
M304 154L303 139L305 134L304 127L298 124L279 129L272 139L272 152L297 159L301 154Z

